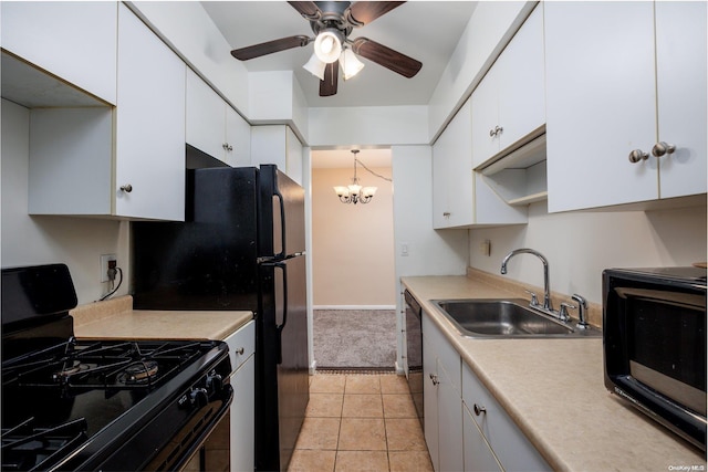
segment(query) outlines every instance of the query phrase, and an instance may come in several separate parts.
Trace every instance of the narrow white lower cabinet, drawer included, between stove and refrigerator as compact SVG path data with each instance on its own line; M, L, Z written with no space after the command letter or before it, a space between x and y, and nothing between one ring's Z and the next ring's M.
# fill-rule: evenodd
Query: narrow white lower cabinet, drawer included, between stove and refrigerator
M233 402L229 412L231 472L252 472L256 444L253 442L256 419L253 415L256 391L256 324L249 322L226 343L231 359L230 384L233 387Z

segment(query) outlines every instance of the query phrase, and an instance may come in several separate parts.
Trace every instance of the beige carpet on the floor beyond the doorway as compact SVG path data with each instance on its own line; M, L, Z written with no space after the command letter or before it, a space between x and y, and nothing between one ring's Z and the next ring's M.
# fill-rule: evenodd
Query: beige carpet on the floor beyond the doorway
M315 310L313 337L317 370L395 370L394 310Z

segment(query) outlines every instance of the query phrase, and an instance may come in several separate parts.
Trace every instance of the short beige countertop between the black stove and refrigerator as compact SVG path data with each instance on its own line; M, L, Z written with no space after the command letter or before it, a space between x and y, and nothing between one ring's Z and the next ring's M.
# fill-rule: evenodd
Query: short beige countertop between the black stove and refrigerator
M223 340L253 318L251 312L133 310L133 297L81 305L70 312L74 335L101 339Z

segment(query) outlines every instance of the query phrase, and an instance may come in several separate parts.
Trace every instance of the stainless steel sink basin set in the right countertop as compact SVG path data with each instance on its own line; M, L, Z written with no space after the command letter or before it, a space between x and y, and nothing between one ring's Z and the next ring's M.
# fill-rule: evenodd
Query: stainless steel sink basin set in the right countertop
M462 336L479 338L596 337L596 328L579 329L575 321L563 323L529 307L521 298L434 300Z

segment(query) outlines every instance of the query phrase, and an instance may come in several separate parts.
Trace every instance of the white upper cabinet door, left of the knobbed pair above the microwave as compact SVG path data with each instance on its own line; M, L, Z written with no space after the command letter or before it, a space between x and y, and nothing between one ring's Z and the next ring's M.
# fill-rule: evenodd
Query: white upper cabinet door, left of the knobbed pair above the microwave
M654 4L543 7L549 211L656 199Z

